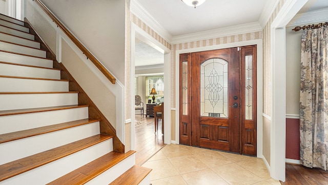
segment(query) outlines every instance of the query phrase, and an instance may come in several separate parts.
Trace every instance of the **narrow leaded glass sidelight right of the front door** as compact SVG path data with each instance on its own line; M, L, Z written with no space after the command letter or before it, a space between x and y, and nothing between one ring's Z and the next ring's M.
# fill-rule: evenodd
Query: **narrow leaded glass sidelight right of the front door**
M253 55L245 56L245 119L253 119Z

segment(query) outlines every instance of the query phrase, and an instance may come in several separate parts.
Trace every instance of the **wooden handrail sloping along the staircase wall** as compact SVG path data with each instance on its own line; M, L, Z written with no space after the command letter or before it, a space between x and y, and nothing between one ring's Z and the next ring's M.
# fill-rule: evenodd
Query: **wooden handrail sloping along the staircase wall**
M40 8L42 8L47 15L52 19L56 25L63 30L63 32L73 41L73 43L89 58L92 63L111 81L112 84L115 84L115 77L98 61L90 51L81 44L77 38L63 25L59 20L50 12L50 10L39 0L33 0Z

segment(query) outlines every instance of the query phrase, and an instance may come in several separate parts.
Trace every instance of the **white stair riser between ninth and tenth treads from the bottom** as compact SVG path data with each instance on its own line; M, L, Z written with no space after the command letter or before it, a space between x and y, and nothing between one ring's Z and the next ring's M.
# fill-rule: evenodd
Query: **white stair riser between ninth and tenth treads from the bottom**
M15 44L0 42L0 50L21 53L26 55L38 56L38 57L46 57L47 53L44 50L38 50L34 48L19 46Z

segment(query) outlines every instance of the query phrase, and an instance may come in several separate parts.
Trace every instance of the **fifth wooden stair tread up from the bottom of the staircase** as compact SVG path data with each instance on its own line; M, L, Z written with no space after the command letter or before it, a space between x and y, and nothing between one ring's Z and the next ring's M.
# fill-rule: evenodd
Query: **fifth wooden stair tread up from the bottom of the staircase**
M42 108L31 108L31 109L16 109L16 110L5 110L0 111L0 116L8 116L15 114L27 114L35 112L45 112L45 111L55 111L55 110L64 110L64 109L74 109L88 107L88 105L69 105L69 106L55 106L55 107L42 107Z

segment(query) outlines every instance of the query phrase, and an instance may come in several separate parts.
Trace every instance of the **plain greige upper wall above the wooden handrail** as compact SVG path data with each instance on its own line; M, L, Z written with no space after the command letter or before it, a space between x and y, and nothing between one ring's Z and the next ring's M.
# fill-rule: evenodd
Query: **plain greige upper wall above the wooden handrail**
M121 83L124 83L125 1L42 2Z

